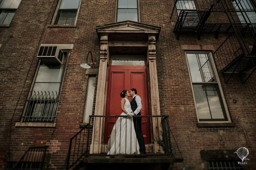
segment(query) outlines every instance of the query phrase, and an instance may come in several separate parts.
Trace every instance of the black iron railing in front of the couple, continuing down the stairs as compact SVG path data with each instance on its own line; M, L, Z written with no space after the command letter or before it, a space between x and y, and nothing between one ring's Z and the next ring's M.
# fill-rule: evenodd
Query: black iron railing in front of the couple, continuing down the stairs
M167 115L133 116L133 119L135 120L136 118L142 119L142 132L146 153L139 153L139 148L136 148L135 151L132 149L128 150L128 146L131 145L131 138L133 136L127 133L128 128L137 128L136 126L134 127L131 124L131 126L127 124L127 122L131 123L130 118L127 116L90 116L89 124L70 139L69 151L64 164L64 169L69 169L77 165L89 155L108 156L108 158L115 156L140 157L159 155L171 157L179 155L178 157L182 157L171 132L171 128L169 127L168 117L169 116ZM119 124L116 123L117 120ZM103 128L103 125L105 125L105 128ZM114 132L114 130L112 131L114 126L116 126L114 128L115 130L123 126L125 129L127 127L127 129L125 132L118 131L120 132L119 134L116 133L116 131ZM96 127L100 128L95 130ZM132 129L128 132L132 133ZM121 139L125 139L125 144L120 142ZM114 141L114 143L111 144L112 141ZM172 145L173 143L175 143L175 145ZM121 145L124 147L118 151L118 148L121 148ZM110 151L111 146L112 149L114 148L112 151ZM137 146L138 145L136 145L136 147ZM176 151L179 152L176 153Z

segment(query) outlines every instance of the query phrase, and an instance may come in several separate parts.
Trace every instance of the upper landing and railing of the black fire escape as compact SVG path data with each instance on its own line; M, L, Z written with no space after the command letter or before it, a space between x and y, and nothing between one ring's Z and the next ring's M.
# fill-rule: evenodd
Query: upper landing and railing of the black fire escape
M181 32L196 32L198 39L202 32L212 32L217 38L219 33L252 31L256 27L256 19L248 26L249 12L255 12L255 9L252 6L245 7L238 0L175 0L171 20L175 23L173 31L177 39ZM235 20L235 27L229 17Z

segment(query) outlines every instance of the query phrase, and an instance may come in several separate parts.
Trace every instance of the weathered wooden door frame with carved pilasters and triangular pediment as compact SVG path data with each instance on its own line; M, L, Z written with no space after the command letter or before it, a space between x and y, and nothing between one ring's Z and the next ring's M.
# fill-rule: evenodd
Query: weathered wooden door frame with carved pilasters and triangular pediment
M149 89L149 114L152 116L160 116L160 103L157 81L157 69L156 69L156 39L159 37L161 27L157 27L149 24L142 24L132 21L117 22L112 24L106 24L103 26L97 26L96 32L100 38L100 60L99 60L99 75L97 83L95 115L106 114L106 101L107 101L107 87L108 87L108 66L110 63L110 54L108 50L108 44L114 46L147 46L147 58L146 67L148 70L148 89ZM125 33L127 37L129 34L146 34L148 39L145 42L124 42L116 41L110 43L108 40L109 34L113 33ZM158 121L158 120L157 120ZM161 121L157 122L153 120L153 139L157 139L158 132L161 131L161 127L157 124L161 124ZM96 123L95 123L96 122ZM92 143L90 145L90 154L99 154L103 150L103 125L105 122L95 121L93 124ZM161 134L159 134L161 136ZM153 152L159 153L159 144L157 141L153 141Z

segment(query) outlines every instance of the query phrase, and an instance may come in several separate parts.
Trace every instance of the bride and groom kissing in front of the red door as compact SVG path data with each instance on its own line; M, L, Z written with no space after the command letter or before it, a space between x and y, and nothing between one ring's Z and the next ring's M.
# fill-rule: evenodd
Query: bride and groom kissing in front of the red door
M115 154L145 154L145 143L141 128L141 117L133 117L134 115L140 116L142 109L141 98L137 95L137 90L132 88L123 90L120 93L121 110L122 113L116 120L110 138L108 140L108 153L107 155ZM128 100L132 97L132 101Z

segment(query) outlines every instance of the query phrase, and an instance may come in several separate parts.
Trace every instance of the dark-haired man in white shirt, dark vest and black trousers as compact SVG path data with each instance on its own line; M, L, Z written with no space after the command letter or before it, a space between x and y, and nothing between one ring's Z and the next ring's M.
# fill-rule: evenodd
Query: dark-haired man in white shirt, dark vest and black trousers
M136 89L132 88L130 90L130 95L133 98L132 101L131 101L131 107L132 107L133 113L128 115L128 117L132 118L132 116L134 116L134 114L135 115L141 115L140 110L142 109L142 104L141 104L141 98L140 98L140 96L137 95L137 90ZM141 154L146 154L144 138L143 138L143 134L142 134L142 130L141 130L141 121L142 121L141 117L134 117L133 118L133 123L134 123L134 128L135 128L135 131L136 131L136 136L137 136L137 139L138 139L138 143L140 145L140 153Z

